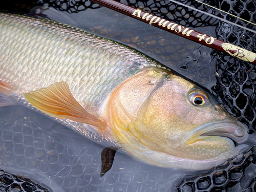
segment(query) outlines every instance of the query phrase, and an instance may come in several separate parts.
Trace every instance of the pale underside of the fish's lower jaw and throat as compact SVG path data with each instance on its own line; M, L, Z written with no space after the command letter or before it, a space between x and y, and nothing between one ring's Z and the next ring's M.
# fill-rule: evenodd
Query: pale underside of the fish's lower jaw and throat
M216 154L215 157L193 159L192 155L187 157L181 157L179 155L171 155L164 152L152 150L136 138L131 141L129 140L129 138L131 139L131 135L127 133L127 131L123 131L117 124L115 124L115 130L115 136L118 143L122 147L123 153L129 155L137 161L164 168L206 170L223 163L224 161L233 156L238 155L249 147L248 145L238 145L237 147L235 147L232 143L230 150L226 152L220 152L219 154ZM184 153L190 154L190 151L188 152L186 150L184 151Z

